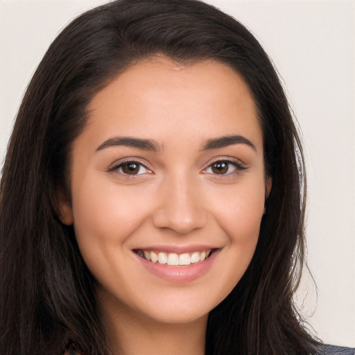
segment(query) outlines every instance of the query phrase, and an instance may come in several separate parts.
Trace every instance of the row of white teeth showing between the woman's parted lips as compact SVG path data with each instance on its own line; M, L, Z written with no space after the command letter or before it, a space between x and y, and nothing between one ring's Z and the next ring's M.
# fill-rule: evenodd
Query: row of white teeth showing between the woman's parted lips
M153 252L149 250L135 250L135 253L152 263L168 266L189 266L208 259L215 250L203 250L202 252Z

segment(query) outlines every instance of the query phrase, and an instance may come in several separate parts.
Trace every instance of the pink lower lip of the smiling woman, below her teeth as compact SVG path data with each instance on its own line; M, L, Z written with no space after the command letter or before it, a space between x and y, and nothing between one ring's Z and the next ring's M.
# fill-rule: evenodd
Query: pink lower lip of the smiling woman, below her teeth
M191 282L204 275L219 254L219 250L213 252L207 259L186 266L168 266L166 264L153 263L136 254L139 262L148 272L153 273L168 282Z

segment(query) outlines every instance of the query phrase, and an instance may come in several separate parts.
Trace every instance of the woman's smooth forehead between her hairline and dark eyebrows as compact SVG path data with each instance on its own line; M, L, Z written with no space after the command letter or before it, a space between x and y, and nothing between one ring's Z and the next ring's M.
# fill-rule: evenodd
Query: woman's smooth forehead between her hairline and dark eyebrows
M213 60L189 64L166 57L142 60L94 96L88 116L87 126L96 134L107 127L119 135L153 139L171 132L201 139L243 133L254 136L262 150L248 85L234 69Z

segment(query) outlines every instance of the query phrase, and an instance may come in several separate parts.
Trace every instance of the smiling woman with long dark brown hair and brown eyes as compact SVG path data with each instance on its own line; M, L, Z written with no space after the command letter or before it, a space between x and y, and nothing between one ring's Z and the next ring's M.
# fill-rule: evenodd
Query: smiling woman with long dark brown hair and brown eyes
M340 351L292 302L303 176L275 69L234 19L189 0L78 17L3 168L1 354Z

